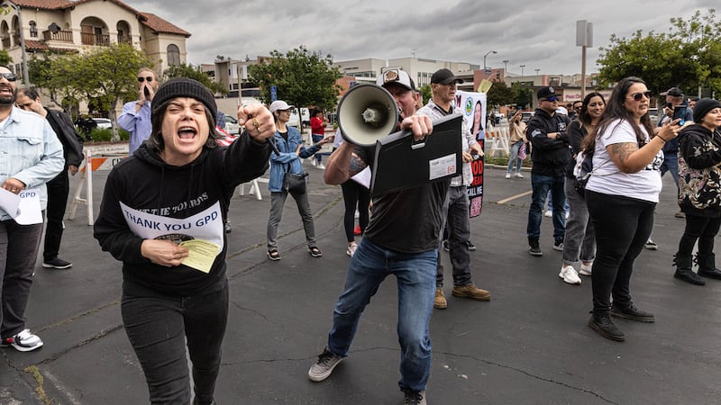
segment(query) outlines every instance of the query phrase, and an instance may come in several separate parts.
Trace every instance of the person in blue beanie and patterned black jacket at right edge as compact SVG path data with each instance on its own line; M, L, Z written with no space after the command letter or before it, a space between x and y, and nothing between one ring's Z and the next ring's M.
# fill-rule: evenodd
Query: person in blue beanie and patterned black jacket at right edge
M673 276L704 285L700 276L721 279L714 255L714 238L721 227L721 103L710 98L698 100L693 121L679 136L679 205L686 214L686 229L673 260ZM698 275L691 270L697 240Z

